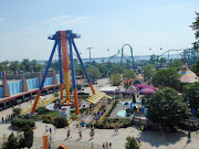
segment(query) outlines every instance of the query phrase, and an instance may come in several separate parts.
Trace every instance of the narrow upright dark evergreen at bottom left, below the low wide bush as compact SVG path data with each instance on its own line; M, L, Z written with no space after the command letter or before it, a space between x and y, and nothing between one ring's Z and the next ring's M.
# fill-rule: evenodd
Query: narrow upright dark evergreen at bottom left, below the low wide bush
M29 125L25 126L23 135L25 139L25 147L31 148L34 137L33 137L33 130Z

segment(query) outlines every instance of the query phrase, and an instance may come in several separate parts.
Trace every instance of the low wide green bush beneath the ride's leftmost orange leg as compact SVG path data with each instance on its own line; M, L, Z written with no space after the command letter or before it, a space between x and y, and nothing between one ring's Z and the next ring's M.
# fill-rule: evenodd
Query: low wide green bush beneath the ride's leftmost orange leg
M34 127L35 121L33 119L22 119L22 118L13 118L11 120L11 126L12 127L23 128L27 125L30 126L30 127Z

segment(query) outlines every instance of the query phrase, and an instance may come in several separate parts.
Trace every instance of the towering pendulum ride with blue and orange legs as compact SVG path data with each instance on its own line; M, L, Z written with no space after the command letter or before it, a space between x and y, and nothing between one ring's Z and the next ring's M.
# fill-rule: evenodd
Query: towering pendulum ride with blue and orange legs
M59 51L59 67L60 67L60 92L61 92L61 99L62 104L65 103L66 105L70 105L70 103L74 103L75 105L75 114L78 115L78 99L77 99L77 88L76 88L76 81L75 81L75 68L74 68L74 61L73 61L73 49L77 55L77 58L82 65L82 68L84 71L84 74L87 78L87 82L90 84L90 87L92 89L92 93L95 94L95 91L93 88L93 85L91 83L90 76L86 72L86 68L82 62L82 58L80 56L80 53L77 51L77 47L75 45L74 39L80 39L80 35L75 34L72 32L72 30L66 30L66 31L57 31L54 35L49 36L49 40L54 40L54 45L45 68L45 72L42 77L42 82L40 84L36 98L34 100L31 114L34 114L38 100L40 98L40 95L43 89L43 85L45 82L45 77L48 75L53 55L55 53L56 46ZM69 52L70 51L70 52ZM69 54L70 53L70 54ZM70 61L69 61L69 55L70 55ZM70 98L70 62L71 62L71 72L72 72L72 83L73 83L73 91L74 91L74 100ZM62 68L63 66L63 68ZM63 82L63 75L64 75L64 82ZM63 88L65 86L65 92L66 92L66 99L63 99Z

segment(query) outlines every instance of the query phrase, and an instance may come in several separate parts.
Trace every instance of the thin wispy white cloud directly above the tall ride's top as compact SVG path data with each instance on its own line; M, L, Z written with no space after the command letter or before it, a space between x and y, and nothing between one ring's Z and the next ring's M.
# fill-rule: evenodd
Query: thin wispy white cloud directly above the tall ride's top
M54 18L50 18L45 20L44 22L46 24L53 23L53 24L59 24L59 25L66 25L66 24L80 24L80 23L85 23L87 20L87 17L71 17L71 15L59 15Z

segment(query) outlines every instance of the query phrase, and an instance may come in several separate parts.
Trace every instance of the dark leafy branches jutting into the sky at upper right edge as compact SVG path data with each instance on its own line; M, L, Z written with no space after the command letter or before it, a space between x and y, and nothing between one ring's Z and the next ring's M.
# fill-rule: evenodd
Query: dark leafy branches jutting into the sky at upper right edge
M199 12L196 12L196 21L192 22L192 30L195 31L196 42L193 42L193 47L198 51L199 50Z

